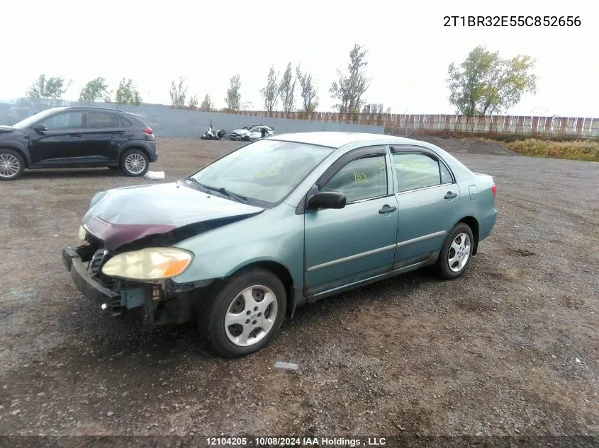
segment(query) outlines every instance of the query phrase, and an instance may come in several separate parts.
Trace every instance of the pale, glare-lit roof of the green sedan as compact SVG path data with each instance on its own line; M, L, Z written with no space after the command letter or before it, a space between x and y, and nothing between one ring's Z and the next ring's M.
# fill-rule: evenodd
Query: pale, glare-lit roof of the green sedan
M358 142L385 142L385 144L415 144L419 143L413 139L394 137L385 134L370 134L367 132L293 132L268 137L269 140L282 140L284 142L296 142L306 144L318 144L323 147L340 148L350 143Z

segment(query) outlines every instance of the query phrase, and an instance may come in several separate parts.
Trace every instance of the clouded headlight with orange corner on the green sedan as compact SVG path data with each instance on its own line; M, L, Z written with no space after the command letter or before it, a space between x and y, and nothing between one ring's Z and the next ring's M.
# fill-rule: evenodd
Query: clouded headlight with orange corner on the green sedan
M193 258L191 252L179 248L145 248L113 256L103 265L102 272L131 280L162 280L181 274Z

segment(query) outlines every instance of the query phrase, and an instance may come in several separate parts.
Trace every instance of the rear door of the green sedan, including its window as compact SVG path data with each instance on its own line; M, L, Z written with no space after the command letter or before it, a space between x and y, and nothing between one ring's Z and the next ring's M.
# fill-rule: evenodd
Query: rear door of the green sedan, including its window
M391 147L398 202L393 269L427 261L452 228L460 191L447 165L421 147Z

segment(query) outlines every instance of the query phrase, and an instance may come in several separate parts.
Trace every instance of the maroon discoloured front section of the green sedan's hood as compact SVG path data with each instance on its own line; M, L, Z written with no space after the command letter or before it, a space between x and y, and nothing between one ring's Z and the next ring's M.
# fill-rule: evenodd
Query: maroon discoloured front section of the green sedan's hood
M104 248L111 251L148 235L166 234L177 226L174 224L113 224L101 218L86 222L87 230L104 242Z

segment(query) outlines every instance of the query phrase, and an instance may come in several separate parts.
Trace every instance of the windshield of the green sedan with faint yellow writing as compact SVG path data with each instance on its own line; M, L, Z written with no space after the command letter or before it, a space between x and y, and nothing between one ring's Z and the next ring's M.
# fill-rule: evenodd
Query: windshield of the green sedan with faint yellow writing
M272 206L283 200L333 148L259 140L206 166L193 177L211 188L225 188L248 202Z

